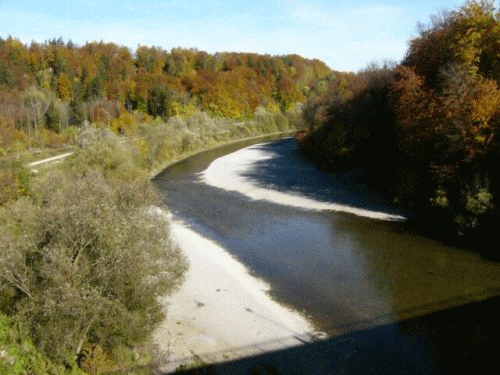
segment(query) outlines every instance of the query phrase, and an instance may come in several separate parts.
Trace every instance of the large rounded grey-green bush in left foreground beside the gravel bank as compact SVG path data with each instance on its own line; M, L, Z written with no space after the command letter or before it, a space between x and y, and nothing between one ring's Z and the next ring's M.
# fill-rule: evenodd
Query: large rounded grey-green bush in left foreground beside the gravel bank
M87 344L112 352L144 341L163 318L156 298L185 269L166 223L150 213L151 183L53 171L33 196L0 222L4 308L55 363Z

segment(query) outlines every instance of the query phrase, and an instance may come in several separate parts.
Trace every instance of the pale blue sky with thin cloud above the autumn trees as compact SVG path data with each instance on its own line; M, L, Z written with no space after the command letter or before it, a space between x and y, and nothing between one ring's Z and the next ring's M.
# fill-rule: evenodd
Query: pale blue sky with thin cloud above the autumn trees
M0 0L0 37L298 54L337 71L400 62L417 24L466 0ZM498 4L498 3L497 3Z

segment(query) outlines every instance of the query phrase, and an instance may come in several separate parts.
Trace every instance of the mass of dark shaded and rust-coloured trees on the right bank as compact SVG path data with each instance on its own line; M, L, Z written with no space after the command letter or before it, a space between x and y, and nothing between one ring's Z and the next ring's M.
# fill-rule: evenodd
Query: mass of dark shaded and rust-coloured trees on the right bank
M454 233L489 231L500 193L500 14L469 1L421 26L398 65L337 74L304 111L300 134L329 166Z

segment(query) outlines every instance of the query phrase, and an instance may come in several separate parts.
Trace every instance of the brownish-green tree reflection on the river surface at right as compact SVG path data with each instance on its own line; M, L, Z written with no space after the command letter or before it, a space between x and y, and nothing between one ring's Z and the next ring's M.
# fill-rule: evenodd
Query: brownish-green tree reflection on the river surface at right
M499 264L476 253L405 232L393 223L333 220L332 226L355 238L367 260L371 285L391 296L399 318L412 316L412 311L429 313L453 305L453 300L498 293Z

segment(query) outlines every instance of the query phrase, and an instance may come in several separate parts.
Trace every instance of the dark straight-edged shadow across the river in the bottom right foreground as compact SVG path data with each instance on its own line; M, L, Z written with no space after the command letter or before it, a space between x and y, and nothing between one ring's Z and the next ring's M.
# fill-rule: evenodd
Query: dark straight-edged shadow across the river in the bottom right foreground
M500 297L181 374L467 374L498 371Z

